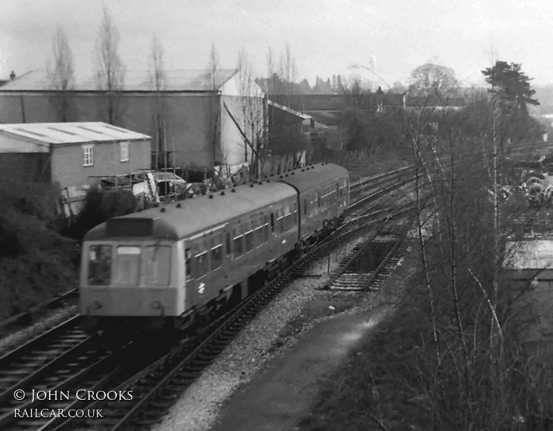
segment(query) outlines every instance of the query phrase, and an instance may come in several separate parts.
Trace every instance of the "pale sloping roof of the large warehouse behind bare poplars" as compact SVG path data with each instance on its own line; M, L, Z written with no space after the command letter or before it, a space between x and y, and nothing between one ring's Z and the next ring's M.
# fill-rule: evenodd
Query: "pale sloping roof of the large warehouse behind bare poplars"
M232 76L236 69L221 69L216 71L215 86L221 88ZM208 91L212 88L206 71L200 70L173 70L165 71L166 91ZM35 70L24 73L14 80L6 82L0 91L51 91L50 76L46 70ZM126 71L124 75L124 91L152 91L148 71ZM97 91L93 75L90 73L75 73L75 90Z

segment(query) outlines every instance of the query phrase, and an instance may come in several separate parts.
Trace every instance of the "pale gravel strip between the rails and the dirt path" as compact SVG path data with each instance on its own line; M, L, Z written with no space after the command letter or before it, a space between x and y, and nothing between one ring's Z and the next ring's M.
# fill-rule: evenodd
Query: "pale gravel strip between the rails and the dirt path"
M330 253L330 271L363 240L364 237L359 237ZM305 273L313 277L295 280L266 306L182 394L165 420L153 430L208 430L214 424L223 401L234 389L252 380L268 358L289 349L294 344L293 335L312 326L315 314L334 314L350 307L345 300L350 295L317 291L326 282L328 257L312 264ZM319 307L312 306L306 311L304 306L308 302L319 304ZM324 310L320 304L324 304Z

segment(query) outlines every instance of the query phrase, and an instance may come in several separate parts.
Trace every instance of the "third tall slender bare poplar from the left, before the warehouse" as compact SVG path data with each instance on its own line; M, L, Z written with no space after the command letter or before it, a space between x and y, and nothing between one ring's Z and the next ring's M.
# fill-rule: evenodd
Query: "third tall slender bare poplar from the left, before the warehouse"
M152 91L156 93L153 100L153 124L156 130L156 168L159 165L158 154L165 154L165 134L167 130L167 104L162 98L161 93L167 89L167 76L165 74L165 64L163 59L163 46L156 36L153 36L151 43L151 57L148 71L148 78Z

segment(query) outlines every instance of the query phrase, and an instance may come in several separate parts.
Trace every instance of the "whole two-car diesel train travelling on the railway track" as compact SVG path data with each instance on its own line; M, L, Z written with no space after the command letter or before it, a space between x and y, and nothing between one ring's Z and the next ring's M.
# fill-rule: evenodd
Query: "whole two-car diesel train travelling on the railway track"
M82 328L197 333L338 228L349 187L318 163L108 219L82 243Z

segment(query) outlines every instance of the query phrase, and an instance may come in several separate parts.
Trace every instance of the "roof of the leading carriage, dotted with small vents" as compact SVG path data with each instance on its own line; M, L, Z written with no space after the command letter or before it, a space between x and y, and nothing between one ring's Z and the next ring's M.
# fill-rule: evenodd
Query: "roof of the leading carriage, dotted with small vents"
M234 217L249 214L258 208L297 195L290 185L272 179L265 180L262 184L254 183L253 187L249 184L238 185L234 190L235 192L225 190L224 195L221 195L221 192L215 192L212 199L205 195L180 201L181 208L177 208L176 203L169 203L110 220L117 220L112 227L118 225L120 228L125 228L120 224L123 220L128 221L129 223L126 223L128 225L138 222L144 226L144 222L149 222L153 225L149 237L183 239L225 223ZM165 208L165 211L162 212L162 208ZM119 237L120 235L109 235L109 229L106 228L108 223L109 221L89 230L84 236L84 241ZM131 235L126 232L121 236Z

